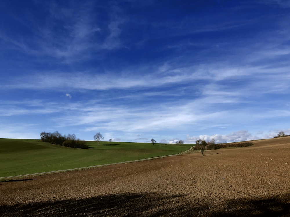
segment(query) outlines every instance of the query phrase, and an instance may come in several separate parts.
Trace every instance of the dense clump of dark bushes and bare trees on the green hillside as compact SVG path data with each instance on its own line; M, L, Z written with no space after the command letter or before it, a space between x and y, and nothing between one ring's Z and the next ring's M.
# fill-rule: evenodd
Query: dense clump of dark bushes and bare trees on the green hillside
M40 139L43 142L70 148L89 148L86 141L77 138L75 134L62 135L58 131L53 133L46 133L43 131L40 133Z

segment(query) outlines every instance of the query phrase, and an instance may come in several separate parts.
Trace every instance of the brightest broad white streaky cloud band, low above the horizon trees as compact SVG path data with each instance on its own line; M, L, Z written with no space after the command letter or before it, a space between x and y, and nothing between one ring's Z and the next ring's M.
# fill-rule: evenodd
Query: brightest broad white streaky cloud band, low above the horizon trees
M94 103L73 103L61 106L63 115L54 117L53 121L60 127L87 126L85 131L102 128L106 131L120 130L127 133L138 133L149 132L152 128L168 132L173 132L176 128L188 131L189 126L191 130L222 129L231 126L233 119L235 119L235 124L242 128L246 123L260 122L267 117L290 116L286 110L283 112L271 108L268 112L263 111L264 115L260 115L260 110L251 111L247 108L230 107L224 110L224 108L219 108L217 103L233 104L236 102L196 99L191 102L179 102L178 110L172 103L155 103L154 106L148 104L147 106L142 105L142 108L132 108L132 106L127 108L126 105L113 106L105 101L98 106Z

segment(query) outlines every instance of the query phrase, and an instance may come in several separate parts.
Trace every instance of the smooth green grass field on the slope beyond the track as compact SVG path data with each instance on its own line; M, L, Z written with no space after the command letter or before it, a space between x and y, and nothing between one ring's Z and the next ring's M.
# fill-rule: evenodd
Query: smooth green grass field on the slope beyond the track
M192 144L87 142L89 149L67 148L38 139L0 139L0 177L50 172L173 155Z

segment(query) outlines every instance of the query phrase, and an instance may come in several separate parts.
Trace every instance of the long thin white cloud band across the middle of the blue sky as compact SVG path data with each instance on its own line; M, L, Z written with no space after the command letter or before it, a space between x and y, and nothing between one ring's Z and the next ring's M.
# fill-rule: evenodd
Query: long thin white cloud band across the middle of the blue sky
M272 67L272 66L271 66ZM218 69L217 69L218 68ZM148 89L158 88L165 85L180 83L185 89L194 88L204 96L228 96L230 100L238 100L242 95L265 94L265 93L283 93L289 90L288 82L290 76L288 71L290 66L267 68L267 67L216 67L214 65L205 67L193 66L173 69L175 73L169 71L166 74L159 74L156 79L157 71L154 69L150 74L134 75L134 71L122 73L119 76L114 74L93 75L92 73L47 73L22 76L14 79L13 83L2 85L2 89L31 89L31 90L111 90L122 89L130 90L132 88ZM141 71L141 70L139 70ZM26 80L25 83L22 81ZM35 83L35 80L41 82ZM192 86L192 83L203 82L206 84ZM228 85L225 82L237 82L237 86ZM73 88L72 88L73 87ZM268 88L271 87L271 88ZM180 92L172 92L171 88L166 91L148 91L143 95L182 95ZM129 93L128 93L129 94ZM131 95L131 94L129 94ZM129 96L128 95L128 96ZM122 98L128 97L122 95Z

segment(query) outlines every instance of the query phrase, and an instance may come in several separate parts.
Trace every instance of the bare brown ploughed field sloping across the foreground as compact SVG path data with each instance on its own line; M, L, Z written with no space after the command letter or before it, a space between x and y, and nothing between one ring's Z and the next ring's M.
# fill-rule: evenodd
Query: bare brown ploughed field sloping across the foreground
M290 216L290 137L253 142L0 182L0 216Z

